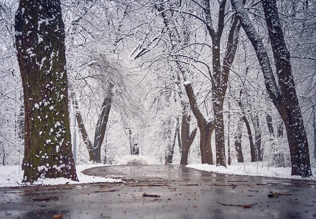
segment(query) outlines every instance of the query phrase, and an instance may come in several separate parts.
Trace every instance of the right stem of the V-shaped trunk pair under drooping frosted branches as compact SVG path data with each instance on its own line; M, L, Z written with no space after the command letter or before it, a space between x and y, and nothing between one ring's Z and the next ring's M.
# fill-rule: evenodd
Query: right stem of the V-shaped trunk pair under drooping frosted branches
M103 99L101 112L95 127L92 161L96 163L101 163L101 145L103 143L104 135L106 134L107 124L112 106L112 97L112 86L110 86L106 97Z

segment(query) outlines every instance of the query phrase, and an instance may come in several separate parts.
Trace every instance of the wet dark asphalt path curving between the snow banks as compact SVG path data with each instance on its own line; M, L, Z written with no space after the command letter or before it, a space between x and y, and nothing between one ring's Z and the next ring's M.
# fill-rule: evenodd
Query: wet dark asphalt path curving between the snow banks
M126 182L0 188L0 218L316 218L315 181L179 165L107 166L84 173ZM269 198L269 191L281 195Z

